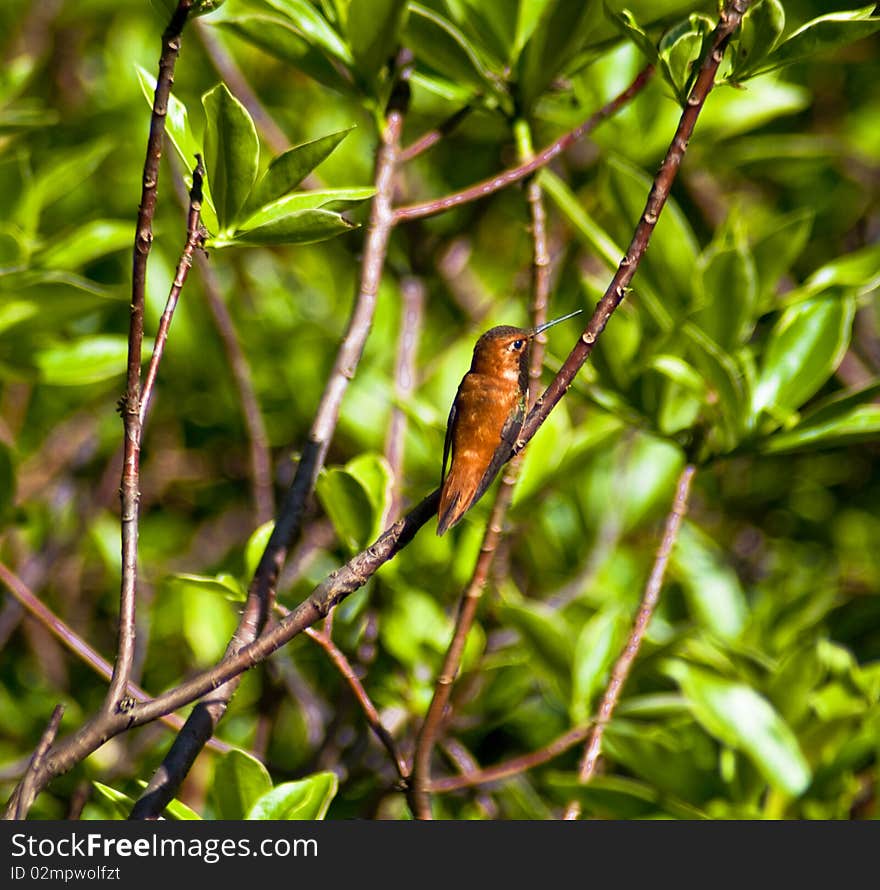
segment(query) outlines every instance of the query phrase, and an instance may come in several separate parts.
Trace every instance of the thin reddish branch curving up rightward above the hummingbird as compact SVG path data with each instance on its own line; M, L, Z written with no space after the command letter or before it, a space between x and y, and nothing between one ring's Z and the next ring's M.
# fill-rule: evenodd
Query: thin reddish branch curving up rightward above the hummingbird
M643 68L636 76L635 80L622 93L620 93L620 95L616 96L607 105L600 108L592 115L592 117L588 118L568 133L560 136L555 142L552 142L546 148L541 149L541 151L534 155L534 157L518 164L516 167L511 167L495 176L490 176L488 179L484 179L482 182L468 186L468 188L462 189L461 191L453 192L451 195L446 195L443 198L435 198L420 204L410 204L405 207L398 207L394 211L395 225L404 222L405 220L434 216L438 213L451 210L453 207L467 204L470 201L477 201L480 198L485 198L487 195L493 195L495 192L507 188L507 186L512 185L514 182L519 182L521 179L525 179L531 173L540 170L541 167L545 167L555 157L558 157L564 151L567 151L575 142L594 130L608 117L615 114L629 102L633 96L641 91L645 84L651 79L653 73L654 67L652 65Z

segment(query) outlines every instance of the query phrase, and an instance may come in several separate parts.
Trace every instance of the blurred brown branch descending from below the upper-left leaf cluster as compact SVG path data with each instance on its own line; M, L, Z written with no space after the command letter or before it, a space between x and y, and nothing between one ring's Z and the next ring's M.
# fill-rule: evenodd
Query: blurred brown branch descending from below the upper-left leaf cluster
M263 421L263 413L260 410L260 402L257 399L256 389L254 388L251 368L239 341L238 332L235 330L232 315L220 293L220 283L217 281L217 276L214 274L208 258L203 253L196 255L196 263L198 264L199 275L204 286L208 309L211 312L211 317L214 319L217 333L220 335L220 342L223 344L226 360L229 362L232 377L238 390L238 400L241 403L241 412L250 448L254 512L257 525L262 525L275 515L272 456L269 451L269 437L266 433L266 424Z

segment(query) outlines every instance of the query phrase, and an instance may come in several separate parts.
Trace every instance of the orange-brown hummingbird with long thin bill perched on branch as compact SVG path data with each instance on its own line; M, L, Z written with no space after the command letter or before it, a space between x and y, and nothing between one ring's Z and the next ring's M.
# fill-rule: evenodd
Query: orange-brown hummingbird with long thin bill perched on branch
M458 386L446 423L438 535L452 528L483 496L510 458L526 416L532 340L580 311L536 328L500 325L477 340L470 370Z

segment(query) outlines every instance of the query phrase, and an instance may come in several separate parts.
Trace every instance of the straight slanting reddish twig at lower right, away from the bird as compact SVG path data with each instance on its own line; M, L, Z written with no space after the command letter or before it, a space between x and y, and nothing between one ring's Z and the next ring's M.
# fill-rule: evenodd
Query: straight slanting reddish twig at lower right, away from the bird
M666 576L666 566L669 563L669 556L672 548L678 538L678 532L681 523L687 513L688 500L690 499L691 482L696 473L696 467L693 464L687 464L678 477L678 483L675 488L675 499L672 503L667 517L666 524L663 528L663 539L657 550L654 559L654 565L645 585L645 592L642 596L642 602L639 611L636 613L636 620L630 631L629 639L619 658L614 664L611 671L611 679L602 696L602 703L599 705L599 715L590 738L587 741L584 750L584 756L578 771L578 781L582 785L586 785L596 771L596 763L599 759L599 751L602 747L602 734L614 714L617 702L620 699L620 693L623 690L624 683L632 670L636 656L639 654L639 648L642 645L642 639L645 631L651 622L654 609L660 600L660 590L663 587L663 579ZM565 819L577 819L580 815L580 803L576 800L571 801L565 811Z

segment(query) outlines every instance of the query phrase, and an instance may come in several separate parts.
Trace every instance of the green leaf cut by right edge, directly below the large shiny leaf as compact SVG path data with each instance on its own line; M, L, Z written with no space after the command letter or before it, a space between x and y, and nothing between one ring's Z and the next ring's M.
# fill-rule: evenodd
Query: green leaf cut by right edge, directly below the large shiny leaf
M785 451L837 448L880 438L880 383L846 392L817 405L797 426L776 433L761 443L768 454ZM869 404L866 404L869 402Z

